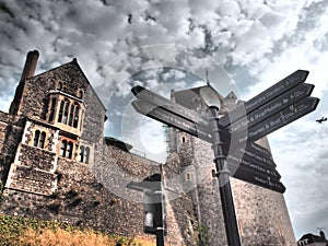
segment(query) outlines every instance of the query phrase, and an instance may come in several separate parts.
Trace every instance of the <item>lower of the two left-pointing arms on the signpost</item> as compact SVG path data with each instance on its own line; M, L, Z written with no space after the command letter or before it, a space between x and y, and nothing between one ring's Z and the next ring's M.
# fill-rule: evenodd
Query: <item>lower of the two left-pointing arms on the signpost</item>
M204 141L212 142L212 136L208 133L208 130L191 120L175 115L162 107L159 107L145 101L133 101L132 106L138 113L142 115L147 115L150 118L159 120L163 124L178 128L181 131L198 137Z

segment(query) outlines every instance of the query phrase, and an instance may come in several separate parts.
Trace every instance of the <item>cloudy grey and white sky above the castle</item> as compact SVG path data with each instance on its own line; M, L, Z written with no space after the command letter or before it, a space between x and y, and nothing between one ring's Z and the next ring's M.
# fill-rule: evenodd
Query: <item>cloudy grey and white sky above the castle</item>
M318 108L269 140L296 238L317 227L328 234L328 122L315 121L328 116L327 23L326 0L0 0L0 109L8 112L33 49L40 52L36 73L78 58L107 107L106 134L130 141L132 85L168 96L171 87L204 84L208 69L220 93L248 99L308 70ZM134 137L145 145L153 139ZM163 152L163 142L151 145L141 151Z

